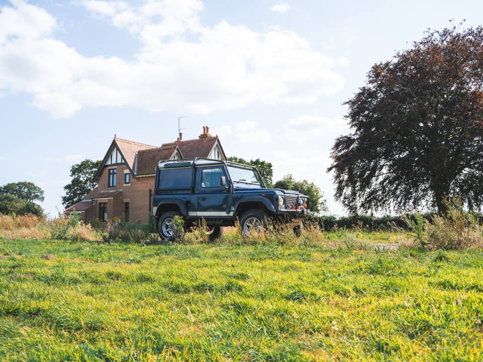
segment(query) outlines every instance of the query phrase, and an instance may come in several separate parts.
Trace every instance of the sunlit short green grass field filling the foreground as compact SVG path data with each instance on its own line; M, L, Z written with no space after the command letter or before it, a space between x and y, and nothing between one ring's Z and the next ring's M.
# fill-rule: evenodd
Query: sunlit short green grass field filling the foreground
M0 254L3 361L483 360L483 251L0 240Z

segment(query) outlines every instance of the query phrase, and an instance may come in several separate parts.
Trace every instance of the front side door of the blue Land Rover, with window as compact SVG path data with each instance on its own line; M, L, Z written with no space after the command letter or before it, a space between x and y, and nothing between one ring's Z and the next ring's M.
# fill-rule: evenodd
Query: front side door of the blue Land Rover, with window
M190 213L190 216L205 219L229 216L230 188L224 166L196 167L194 199L196 208L193 213L196 214Z

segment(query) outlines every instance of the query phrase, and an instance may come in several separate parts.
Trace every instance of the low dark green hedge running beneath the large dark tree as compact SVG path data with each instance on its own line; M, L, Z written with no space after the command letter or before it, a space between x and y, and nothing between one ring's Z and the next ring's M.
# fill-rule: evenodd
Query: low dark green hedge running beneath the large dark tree
M421 216L432 221L433 216L436 212L421 214ZM483 213L471 213L478 224L483 224ZM411 220L416 221L416 214L406 214ZM363 230L375 231L375 230L391 230L393 228L403 228L406 229L408 224L406 223L404 216L370 216L370 215L354 215L354 216L344 216L336 217L333 215L329 216L309 216L307 222L317 224L320 228L326 231L331 231L334 229L353 229L361 228Z

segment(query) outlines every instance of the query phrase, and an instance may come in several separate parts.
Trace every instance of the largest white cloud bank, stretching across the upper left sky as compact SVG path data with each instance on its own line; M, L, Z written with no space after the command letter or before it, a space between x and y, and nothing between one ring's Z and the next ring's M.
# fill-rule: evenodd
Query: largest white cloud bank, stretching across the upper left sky
M62 41L45 10L0 8L0 92L27 93L53 117L85 107L209 113L259 104L310 104L344 85L338 62L281 29L204 26L199 0L81 1L141 42L133 60L87 57ZM12 21L11 19L14 19Z

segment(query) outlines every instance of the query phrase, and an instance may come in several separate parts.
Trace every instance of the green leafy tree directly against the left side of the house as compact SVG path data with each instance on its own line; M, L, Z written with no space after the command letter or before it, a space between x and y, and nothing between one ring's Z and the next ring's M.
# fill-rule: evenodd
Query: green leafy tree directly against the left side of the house
M64 186L65 196L62 196L62 205L69 207L81 201L96 186L93 178L101 161L85 159L70 167L70 183Z

